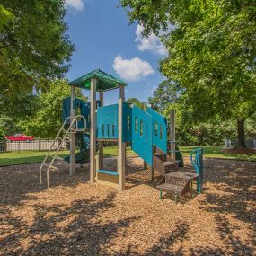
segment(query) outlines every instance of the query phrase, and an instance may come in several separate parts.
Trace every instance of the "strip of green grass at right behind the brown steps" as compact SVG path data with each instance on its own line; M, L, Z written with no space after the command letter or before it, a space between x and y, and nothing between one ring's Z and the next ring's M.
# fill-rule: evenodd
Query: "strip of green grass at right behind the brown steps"
M180 146L180 150L183 156L189 156L196 147L203 148L204 157L256 161L256 154L229 154L223 151L224 146Z

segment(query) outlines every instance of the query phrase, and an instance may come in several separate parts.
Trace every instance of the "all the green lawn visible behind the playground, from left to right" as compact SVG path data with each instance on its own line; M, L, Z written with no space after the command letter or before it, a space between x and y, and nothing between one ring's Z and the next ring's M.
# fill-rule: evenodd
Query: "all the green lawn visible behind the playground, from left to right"
M181 146L181 152L183 156L190 156L190 152L193 148L199 146ZM223 151L223 146L200 146L204 149L204 156L211 158L223 158L223 159L237 159L245 161L256 161L256 154L228 154ZM22 164L22 163L38 163L42 162L46 152L8 152L0 154L0 166ZM62 151L58 154L61 157L68 155L68 151ZM117 146L104 147L104 157L112 157L118 155ZM127 148L127 157L137 156L137 154Z

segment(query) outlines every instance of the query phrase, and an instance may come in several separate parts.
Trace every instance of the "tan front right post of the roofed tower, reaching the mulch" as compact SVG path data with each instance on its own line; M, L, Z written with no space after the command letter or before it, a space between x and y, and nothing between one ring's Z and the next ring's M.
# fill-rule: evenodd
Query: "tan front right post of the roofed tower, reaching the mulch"
M119 190L125 190L125 168L126 168L126 144L123 142L123 102L124 85L119 86L119 158L118 158L118 172L119 172Z

